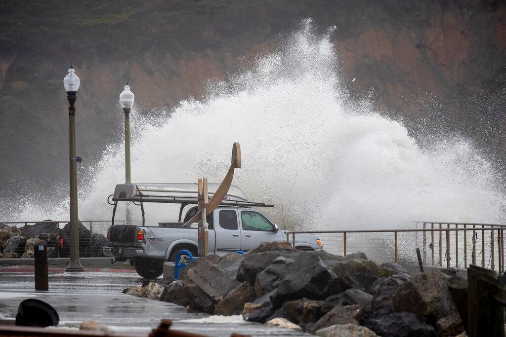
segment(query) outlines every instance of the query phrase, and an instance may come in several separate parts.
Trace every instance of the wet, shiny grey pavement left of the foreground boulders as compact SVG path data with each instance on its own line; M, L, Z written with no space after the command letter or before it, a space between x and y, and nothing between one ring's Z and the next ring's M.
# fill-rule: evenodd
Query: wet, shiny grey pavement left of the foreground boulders
M259 336L304 335L247 323L241 316L188 313L186 308L171 303L122 294L124 288L135 284L142 284L142 278L136 273L59 272L50 273L49 292L36 292L33 273L0 272L0 320L4 324L14 324L19 303L37 298L58 311L58 326L78 327L82 321L94 320L113 331L148 334L162 318L168 318L174 322L174 329L213 336L233 332Z

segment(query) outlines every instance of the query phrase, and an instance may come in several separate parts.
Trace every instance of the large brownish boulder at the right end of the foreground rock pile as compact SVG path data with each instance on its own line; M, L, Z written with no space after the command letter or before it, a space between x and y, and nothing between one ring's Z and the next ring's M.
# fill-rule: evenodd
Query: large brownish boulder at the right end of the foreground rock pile
M395 310L411 312L431 325L441 317L456 314L448 292L449 278L437 270L415 275L399 286L393 299Z

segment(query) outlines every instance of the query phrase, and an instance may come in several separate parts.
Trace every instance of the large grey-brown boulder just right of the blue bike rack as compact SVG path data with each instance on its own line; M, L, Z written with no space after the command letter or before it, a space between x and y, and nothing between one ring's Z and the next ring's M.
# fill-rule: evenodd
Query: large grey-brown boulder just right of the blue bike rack
M236 270L228 264L230 261L223 262L222 268L217 264L219 259L207 256L196 259L186 268L181 282L191 309L214 314L218 303L239 285L235 278Z

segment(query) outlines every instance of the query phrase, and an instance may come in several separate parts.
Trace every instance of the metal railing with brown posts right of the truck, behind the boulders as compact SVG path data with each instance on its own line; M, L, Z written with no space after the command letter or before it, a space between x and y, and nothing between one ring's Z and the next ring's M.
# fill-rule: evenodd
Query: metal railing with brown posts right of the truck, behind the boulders
M467 268L470 264L504 272L505 225L419 221L420 228L288 231L293 247L297 234L317 235L329 253L364 252L383 263L417 264L416 248L423 264L434 267Z

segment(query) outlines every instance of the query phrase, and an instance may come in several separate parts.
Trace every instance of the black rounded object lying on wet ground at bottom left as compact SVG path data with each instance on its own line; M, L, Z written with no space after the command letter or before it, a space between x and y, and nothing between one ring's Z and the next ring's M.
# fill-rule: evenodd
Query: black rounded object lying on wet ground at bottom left
M56 326L59 321L56 310L44 301L28 299L19 304L16 325Z

